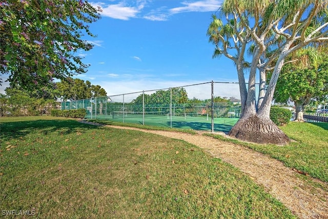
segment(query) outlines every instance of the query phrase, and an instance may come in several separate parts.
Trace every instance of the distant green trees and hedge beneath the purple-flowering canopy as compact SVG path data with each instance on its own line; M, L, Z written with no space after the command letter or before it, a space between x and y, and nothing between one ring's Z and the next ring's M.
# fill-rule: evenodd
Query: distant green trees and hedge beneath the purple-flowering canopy
M107 95L101 86L78 78L53 83L52 88L26 90L16 85L5 91L6 94L0 94L0 116L49 115L51 109L60 108L60 101Z

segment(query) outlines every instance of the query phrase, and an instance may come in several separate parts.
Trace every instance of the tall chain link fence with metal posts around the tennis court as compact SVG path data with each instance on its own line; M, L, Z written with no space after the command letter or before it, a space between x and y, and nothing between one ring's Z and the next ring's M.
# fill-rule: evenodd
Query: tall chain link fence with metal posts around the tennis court
M61 102L63 110L80 108L88 119L228 132L241 105L238 83L208 82Z

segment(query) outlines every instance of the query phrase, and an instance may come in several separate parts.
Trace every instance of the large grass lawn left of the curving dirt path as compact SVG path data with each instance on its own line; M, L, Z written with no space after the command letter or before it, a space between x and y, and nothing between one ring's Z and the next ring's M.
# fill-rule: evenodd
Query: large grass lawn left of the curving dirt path
M1 213L295 218L247 175L183 141L47 116L3 117L0 128Z

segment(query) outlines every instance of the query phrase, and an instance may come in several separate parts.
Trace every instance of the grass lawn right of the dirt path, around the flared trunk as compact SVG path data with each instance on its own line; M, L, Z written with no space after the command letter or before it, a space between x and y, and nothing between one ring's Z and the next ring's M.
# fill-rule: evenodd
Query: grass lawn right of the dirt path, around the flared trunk
M221 136L214 137L269 154L288 167L328 182L328 123L290 122L280 128L293 140L290 144L285 146L258 145Z

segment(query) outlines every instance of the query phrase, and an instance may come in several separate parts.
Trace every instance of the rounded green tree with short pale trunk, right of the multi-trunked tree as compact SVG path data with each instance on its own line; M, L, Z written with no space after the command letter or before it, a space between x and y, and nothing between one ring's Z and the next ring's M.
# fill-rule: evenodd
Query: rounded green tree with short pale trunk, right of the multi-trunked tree
M303 121L304 107L328 95L328 55L310 47L291 58L297 58L297 61L282 68L274 99L278 103L294 102L295 119Z

